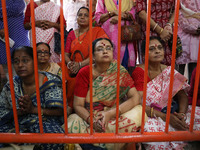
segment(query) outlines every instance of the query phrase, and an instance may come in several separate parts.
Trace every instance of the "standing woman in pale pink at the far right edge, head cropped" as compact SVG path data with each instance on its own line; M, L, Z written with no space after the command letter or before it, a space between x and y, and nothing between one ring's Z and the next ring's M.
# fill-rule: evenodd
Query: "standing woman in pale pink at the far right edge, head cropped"
M179 13L178 35L181 38L183 53L176 60L179 72L184 74L188 64L189 79L196 67L200 38L200 1L181 0L182 9Z

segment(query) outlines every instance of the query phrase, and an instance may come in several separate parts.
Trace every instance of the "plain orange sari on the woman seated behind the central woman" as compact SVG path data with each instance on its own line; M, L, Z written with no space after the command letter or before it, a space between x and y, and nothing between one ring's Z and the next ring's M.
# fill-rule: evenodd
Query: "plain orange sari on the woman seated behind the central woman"
M71 32L74 32L74 31L71 31ZM97 38L108 38L104 30L100 27L92 28L92 41L94 41ZM71 45L69 48L71 61L81 62L89 57L89 32L85 32L78 38L73 39L71 43L70 42L68 43L68 39L67 39L67 44ZM79 51L79 53L76 53L77 50ZM82 58L80 52L83 54L84 58ZM68 100L69 106L73 108L74 86L75 86L76 78L71 78L69 76L69 73L70 73L70 70L66 67L67 100Z

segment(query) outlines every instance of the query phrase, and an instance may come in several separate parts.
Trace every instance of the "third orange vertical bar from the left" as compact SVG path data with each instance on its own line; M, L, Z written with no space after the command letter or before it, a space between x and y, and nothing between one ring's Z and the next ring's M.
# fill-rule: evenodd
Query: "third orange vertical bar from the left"
M66 70L65 70L65 52L64 52L64 15L63 15L63 0L60 0L60 34L61 34L61 66L62 66L62 87L63 87L63 107L64 107L64 121L65 121L65 134L68 134L67 127L67 96L66 96Z

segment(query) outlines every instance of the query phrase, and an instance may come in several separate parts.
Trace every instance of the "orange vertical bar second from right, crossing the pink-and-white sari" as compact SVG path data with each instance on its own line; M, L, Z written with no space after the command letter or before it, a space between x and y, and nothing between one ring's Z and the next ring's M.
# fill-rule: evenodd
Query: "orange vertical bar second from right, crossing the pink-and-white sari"
M168 133L168 129L169 129L170 111L171 111L171 103L172 103L172 89L173 89L173 82L174 82L174 69L175 69L175 57L176 57L176 42L177 42L177 31L178 31L179 6L180 6L180 0L176 0L173 47L172 47L172 60L171 60L171 75L170 75L170 85L169 85L169 95L168 95L169 97L168 97L168 104L167 104L167 116L166 116L166 126L165 126L165 132L166 133Z

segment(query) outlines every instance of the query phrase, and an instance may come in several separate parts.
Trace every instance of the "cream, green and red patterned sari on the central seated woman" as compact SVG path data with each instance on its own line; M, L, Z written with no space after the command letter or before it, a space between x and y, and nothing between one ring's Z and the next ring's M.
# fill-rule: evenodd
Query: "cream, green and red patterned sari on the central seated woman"
M89 67L87 69L89 69ZM82 76L81 72L79 75ZM87 76L89 76L88 73L87 73ZM77 83L80 83L80 82L82 82L82 80L77 79ZM123 98L126 97L126 94L128 93L129 89L134 87L134 82L132 78L130 77L129 73L123 66L120 66L119 84L120 84L119 85L120 86L119 99L120 99L120 103L122 103ZM79 87L79 88L83 88L83 87ZM107 111L111 108L116 107L116 99L117 99L116 90L117 90L117 62L113 61L110 67L107 69L107 71L99 75L93 81L94 116L98 115L99 111ZM77 91L79 90L78 89L76 90L76 96L78 94ZM89 95L90 95L89 93L90 91L89 91L89 85L88 85L88 92L85 94L86 95L85 108L88 111L89 111ZM120 115L119 116L119 132L120 133L136 132L141 125L141 115L142 115L142 106L140 105L135 106L131 110ZM116 120L115 118L113 118L112 120L108 122L108 126L106 126L105 132L114 133L115 127L116 127ZM90 127L89 127L89 124L86 123L86 121L84 121L77 114L72 114L68 118L68 131L70 133L90 133Z

